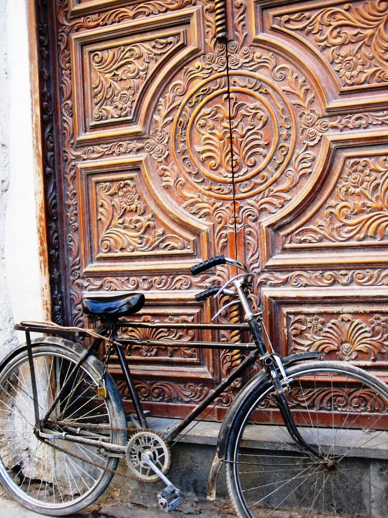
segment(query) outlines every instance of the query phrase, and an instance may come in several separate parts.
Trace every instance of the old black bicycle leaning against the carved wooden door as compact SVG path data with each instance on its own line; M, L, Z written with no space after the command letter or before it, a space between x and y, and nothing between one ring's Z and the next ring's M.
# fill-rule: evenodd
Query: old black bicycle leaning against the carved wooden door
M0 479L14 498L42 514L77 512L105 491L125 457L133 478L166 484L159 505L175 509L181 495L167 477L170 447L248 368L259 366L221 424L209 496L215 497L225 466L231 500L244 518L353 514L350 495L362 493L365 485L353 472L359 458L387 458L385 385L358 367L323 361L319 353L281 358L267 339L262 310L252 296L254 275L242 263L217 256L191 271L196 275L221 264L241 273L196 298L223 294L230 298L227 306L240 304L245 321L240 329L249 328L253 342L232 344L247 350L240 365L165 433L149 429L118 336L118 329L129 325L120 319L142 308L143 294L85 299L85 313L101 322L95 332L51 324L16 326L26 333L26 344L0 366ZM31 340L32 332L59 336ZM94 338L84 348L61 337L65 333ZM103 341L104 363L95 356ZM107 370L113 351L135 408L130 415ZM385 493L381 480L369 481L375 498L378 491L382 498ZM367 504L357 509L357 515L369 514Z

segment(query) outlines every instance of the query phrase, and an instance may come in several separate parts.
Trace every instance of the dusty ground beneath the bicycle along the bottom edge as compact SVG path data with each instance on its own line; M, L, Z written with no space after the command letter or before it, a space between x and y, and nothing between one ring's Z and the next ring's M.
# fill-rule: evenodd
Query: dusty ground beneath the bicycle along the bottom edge
M41 518L10 499L0 488L0 515L3 518ZM236 518L232 506L227 502L207 502L184 496L183 504L167 514L159 509L156 502L144 503L142 496L128 497L121 488L108 490L103 496L84 511L71 515L71 518Z

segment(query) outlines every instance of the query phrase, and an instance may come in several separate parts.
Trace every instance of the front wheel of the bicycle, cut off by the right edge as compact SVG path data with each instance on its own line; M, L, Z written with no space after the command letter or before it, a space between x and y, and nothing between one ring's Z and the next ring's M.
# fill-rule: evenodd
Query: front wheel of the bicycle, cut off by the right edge
M238 516L381 516L388 482L385 385L337 361L295 364L286 373L297 428L329 462L291 439L265 378L236 409L226 443L227 485ZM255 424L258 418L266 423Z

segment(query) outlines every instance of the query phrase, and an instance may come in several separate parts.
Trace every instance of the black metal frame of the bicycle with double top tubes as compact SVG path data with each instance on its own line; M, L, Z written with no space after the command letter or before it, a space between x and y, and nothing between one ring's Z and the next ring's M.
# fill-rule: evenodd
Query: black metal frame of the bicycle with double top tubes
M214 401L226 390L229 386L237 379L239 378L246 369L253 365L257 359L261 359L262 366L267 372L267 374L270 376L275 390L276 390L276 398L278 401L278 406L281 411L281 414L283 416L283 419L285 421L285 424L287 428L290 431L290 434L292 437L299 442L304 448L307 448L311 451L311 453L314 453L315 455L319 456L319 453L315 450L311 450L310 447L308 447L307 444L303 441L300 434L297 432L295 424L293 423L292 416L290 413L290 410L288 408L287 402L285 400L284 394L282 394L283 391L286 390L287 385L287 379L285 379L285 371L283 369L283 363L280 359L280 357L277 354L274 354L272 352L268 352L267 347L265 345L265 342L263 340L261 330L259 327L259 323L257 321L257 315L252 313L250 305L248 303L247 297L244 293L243 289L243 280L240 278L241 276L236 276L232 282L234 284L236 293L238 295L238 298L241 301L242 309L245 315L245 321L247 324L144 324L141 322L117 322L114 320L107 320L107 322L103 323L98 329L97 333L102 336L107 336L110 332L112 332L112 338L114 340L114 349L118 358L118 362L120 363L128 391L132 400L133 407L135 409L135 413L138 419L139 427L141 428L147 428L147 421L146 416L144 414L141 401L139 398L139 395L137 393L135 382L132 377L132 373L129 369L127 360L125 358L125 354L123 352L123 349L118 346L117 342L120 340L118 337L118 329L120 327L161 327L161 328L186 328L186 329L201 329L201 328L212 328L214 330L217 329L238 329L238 330L250 330L251 336L254 340L253 343L218 343L218 342L192 342L192 346L195 346L197 348L222 348L227 349L228 346L230 349L241 349L241 350L248 350L250 351L249 355L241 362L240 365L235 367L235 369L230 373L229 376L224 378L213 391L211 391L202 401L199 402L198 405L196 405L185 418L182 420L179 420L173 429L171 429L167 435L165 435L165 440L168 444L172 444L174 442L174 439L193 421L196 420L196 418L208 407L210 407ZM245 280L245 279L244 279ZM53 438L54 436L56 438L62 438L66 439L68 441L73 442L82 442L86 445L96 446L98 445L100 448L102 447L105 449L108 454L111 453L113 455L116 454L124 454L126 448L120 445L111 444L109 442L101 442L100 440L92 439L92 438L85 438L80 437L79 435L73 435L72 433L62 432L62 433L50 433L49 430L46 430L44 423L50 415L52 409L55 407L57 402L63 397L72 382L72 376L68 378L66 383L61 387L59 390L55 400L52 402L49 410L46 412L46 415L43 417L43 419L39 419L38 414L38 408L36 405L36 389L34 389L35 385L35 369L34 364L32 361L32 345L31 345L31 337L30 332L37 331L37 332L48 332L48 328L44 328L43 326L22 326L18 325L16 326L19 330L24 330L26 334L26 343L28 348L28 356L29 356L29 366L31 369L31 376L32 376L32 383L33 383L33 398L34 398L34 412L35 412L35 426L36 426L36 434L44 437L44 438ZM50 329L50 332L52 333L52 329ZM61 334L58 332L58 334ZM64 330L63 334L69 334L66 330ZM78 333L80 335L80 333ZM122 340L124 343L138 343L136 340L130 340L130 339L124 339ZM148 341L146 341L148 343ZM160 343L158 341L158 343ZM171 345L171 341L168 342ZM76 366L74 366L73 375L76 376L76 373L79 369L79 367L82 365L82 362L85 360L85 358L90 354L95 354L98 350L98 348L101 345L101 339L95 338L92 340L89 347L85 350L84 354L79 359ZM302 359L306 359L306 355L297 355L298 358L295 358L295 361L302 361ZM316 356L316 355L315 355ZM73 431L69 427L69 431Z

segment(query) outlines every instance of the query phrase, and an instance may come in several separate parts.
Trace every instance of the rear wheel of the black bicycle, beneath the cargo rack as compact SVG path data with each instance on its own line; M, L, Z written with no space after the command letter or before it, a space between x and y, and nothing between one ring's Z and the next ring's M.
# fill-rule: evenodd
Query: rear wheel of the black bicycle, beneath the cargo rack
M33 341L40 418L83 352L78 344L62 338ZM84 435L102 434L104 440L108 437L116 444L125 445L126 431L105 429L108 425L126 428L127 422L122 399L108 373L105 376L108 396L96 397L95 387L102 369L96 357L85 359L69 391L55 405L50 428L61 432L68 431L69 426L81 427ZM58 438L39 439L34 434L31 386L28 354L24 348L3 364L0 371L0 480L14 498L35 512L63 516L80 511L106 489L113 473L102 467L115 469L118 458L103 456L96 448L80 443Z

